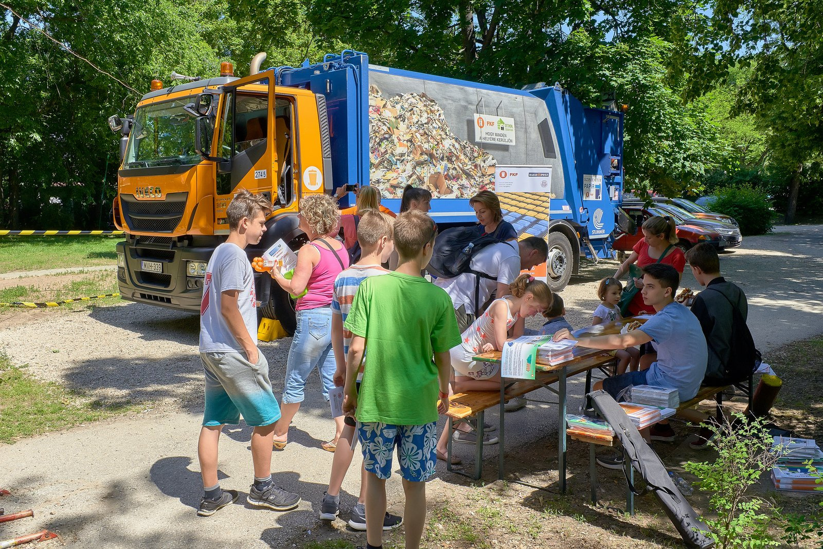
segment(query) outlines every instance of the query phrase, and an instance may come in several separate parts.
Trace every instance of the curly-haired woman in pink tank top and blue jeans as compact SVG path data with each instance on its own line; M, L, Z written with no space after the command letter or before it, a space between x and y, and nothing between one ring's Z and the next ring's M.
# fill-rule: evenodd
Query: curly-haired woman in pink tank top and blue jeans
M297 252L297 266L291 280L272 270L272 278L292 295L306 294L297 300L297 327L286 361L281 418L274 427L274 445L284 448L289 424L305 399L309 373L318 368L323 381L323 398L334 388L334 353L332 352L332 292L337 274L349 266L349 256L341 242L328 236L337 231L340 213L327 195L309 195L300 200L300 229L309 243ZM343 430L343 418L335 418L334 439L323 450L334 451Z

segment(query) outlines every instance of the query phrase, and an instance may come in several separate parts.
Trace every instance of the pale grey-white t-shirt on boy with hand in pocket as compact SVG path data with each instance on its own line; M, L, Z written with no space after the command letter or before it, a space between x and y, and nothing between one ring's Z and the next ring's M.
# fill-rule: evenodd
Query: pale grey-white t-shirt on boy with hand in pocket
M249 258L236 244L223 242L212 253L203 281L200 305L200 352L243 353L221 314L222 293L239 290L237 307L249 336L257 345L257 295L254 292L254 273Z

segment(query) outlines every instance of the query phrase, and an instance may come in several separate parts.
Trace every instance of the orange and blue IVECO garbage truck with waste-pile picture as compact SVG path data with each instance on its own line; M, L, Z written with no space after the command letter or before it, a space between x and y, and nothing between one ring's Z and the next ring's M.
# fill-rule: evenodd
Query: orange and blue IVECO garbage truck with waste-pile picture
M623 113L584 107L559 84L515 90L370 64L352 50L322 62L249 76L181 76L151 91L124 118L114 224L122 298L199 311L212 251L229 233L226 206L240 188L269 196L267 232L293 249L300 199L377 187L398 212L406 185L432 193L439 228L476 224L469 199L500 196L520 238L546 238L546 282L560 290L581 257L611 256L623 182ZM263 316L294 328L294 303L258 275Z

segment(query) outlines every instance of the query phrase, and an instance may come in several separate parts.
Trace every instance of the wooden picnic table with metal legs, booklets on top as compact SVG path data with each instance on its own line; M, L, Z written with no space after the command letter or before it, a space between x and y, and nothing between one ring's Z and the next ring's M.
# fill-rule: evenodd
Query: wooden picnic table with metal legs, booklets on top
M589 337L594 335L606 335L606 334L619 334L622 330L623 326L628 324L631 321L639 321L644 323L646 319L644 318L635 318L635 317L626 317L621 321L612 321L612 322L604 322L598 325L586 326L585 328L580 328L579 330L574 330L572 334L574 337ZM526 385L527 391L523 394L527 394L532 390L537 390L542 387L545 387L551 392L557 394L557 475L558 475L558 482L560 484L560 491L565 493L566 490L566 451L567 451L567 436L566 436L566 429L565 429L565 417L566 417L566 397L567 397L567 377L574 376L579 373L586 372L586 393L591 390L591 374L592 370L597 368L606 367L609 362L613 362L615 360L614 357L611 356L610 351L604 351L603 349L597 348L586 348L581 346L575 346L573 349L573 358L565 362L560 362L552 366L551 364L546 364L545 361L542 359L537 359L537 373L535 374L535 381L536 384L533 385ZM493 362L500 364L501 358L503 353L501 351L491 351L490 353L481 353L474 357L474 360L479 362ZM510 380L508 381L510 382ZM551 388L551 385L557 382L557 390ZM498 477L503 478L503 462L504 462L504 449L503 449L503 441L504 441L504 428L505 422L503 421L504 416L504 399L505 399L505 389L506 389L506 380L501 380L500 383L500 460L498 463ZM459 395L458 396L459 399ZM490 395L491 396L491 395ZM519 396L519 395L518 395ZM495 397L496 399L497 397ZM483 426L482 421L479 418L477 421L477 436L480 440L483 437ZM480 454L478 453L478 456ZM476 465L477 473L479 473L479 464ZM477 475L479 477L479 475Z

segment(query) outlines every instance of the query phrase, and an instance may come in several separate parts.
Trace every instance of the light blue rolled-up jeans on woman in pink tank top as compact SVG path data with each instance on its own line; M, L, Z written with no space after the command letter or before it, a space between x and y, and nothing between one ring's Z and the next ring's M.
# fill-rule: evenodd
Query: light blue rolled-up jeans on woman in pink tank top
M337 368L332 352L332 308L317 307L297 311L297 327L291 339L289 358L286 360L286 382L283 386L283 404L303 402L306 378L314 368L323 381L323 398L334 388Z

